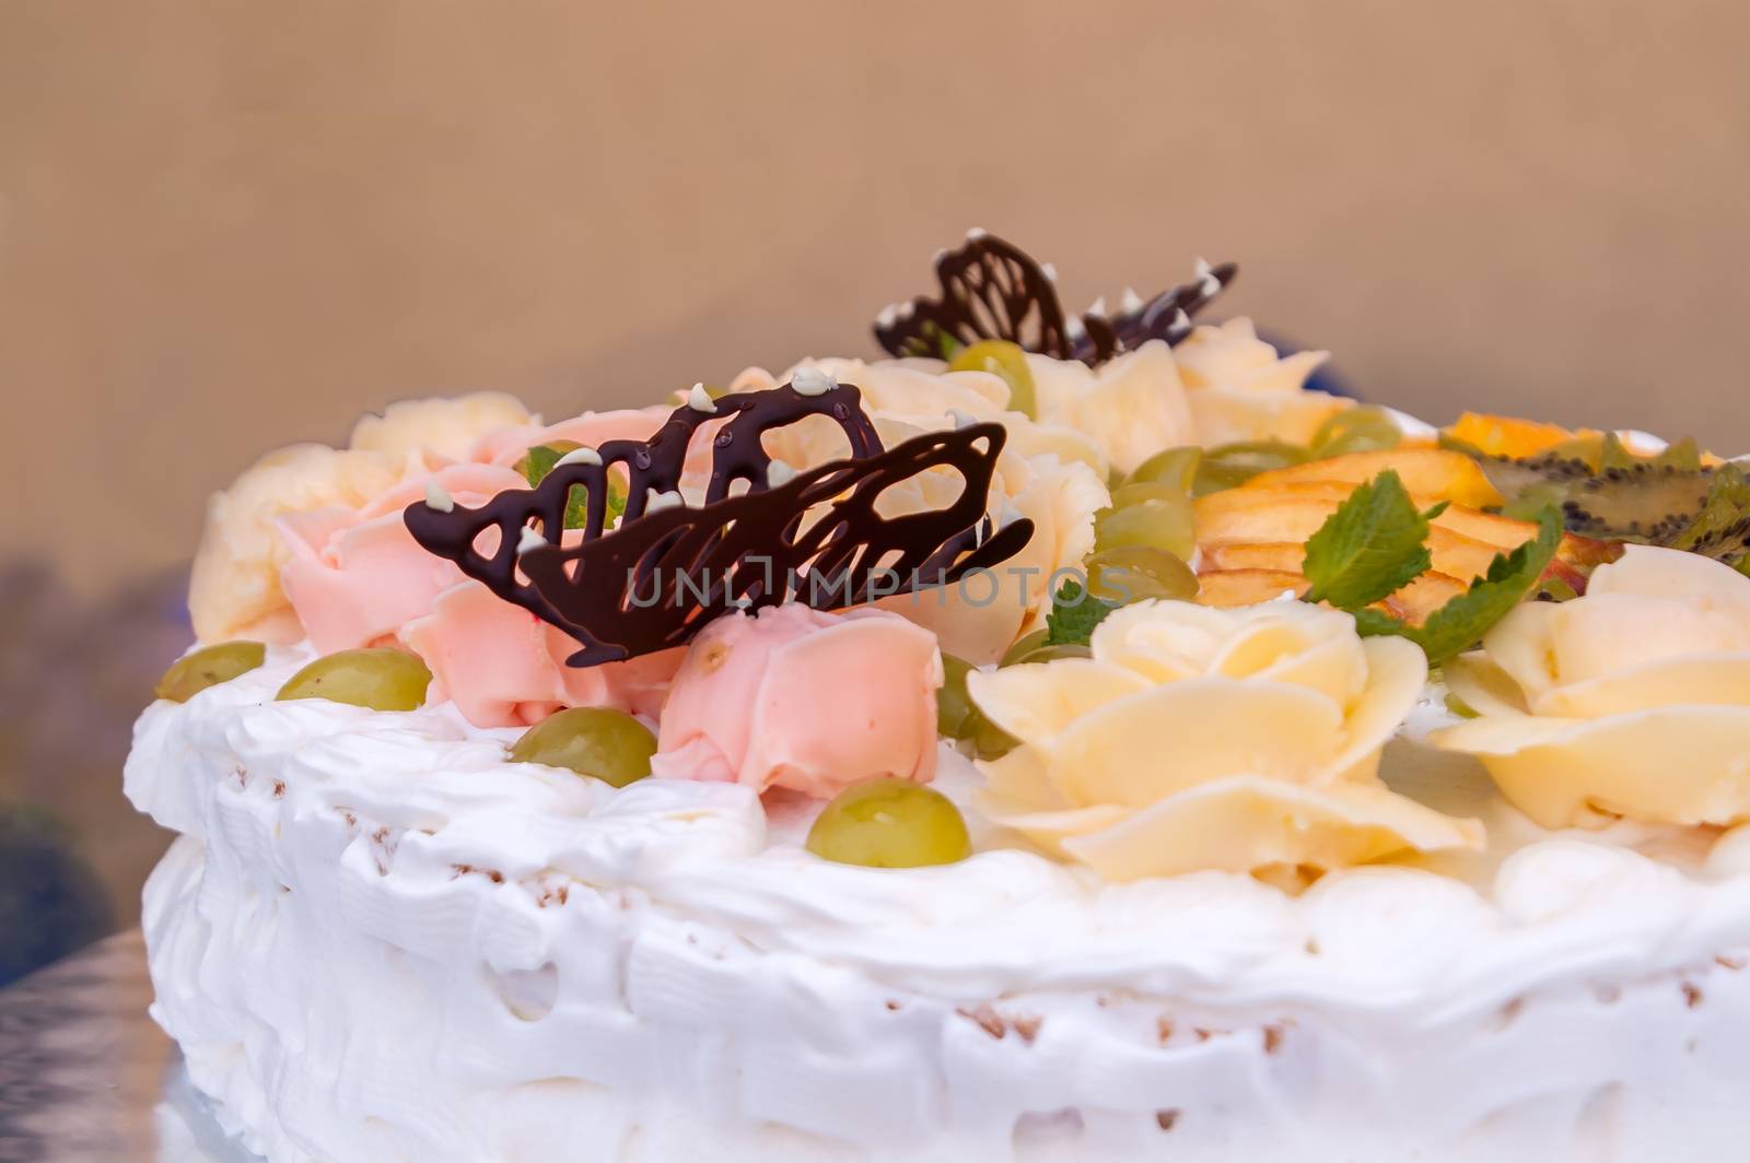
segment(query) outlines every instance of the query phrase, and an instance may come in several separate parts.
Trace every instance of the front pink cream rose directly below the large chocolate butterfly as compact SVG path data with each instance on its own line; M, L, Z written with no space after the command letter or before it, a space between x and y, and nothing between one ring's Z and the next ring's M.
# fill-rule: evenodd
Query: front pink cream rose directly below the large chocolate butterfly
M651 771L831 796L936 773L942 652L886 610L728 614L688 647Z

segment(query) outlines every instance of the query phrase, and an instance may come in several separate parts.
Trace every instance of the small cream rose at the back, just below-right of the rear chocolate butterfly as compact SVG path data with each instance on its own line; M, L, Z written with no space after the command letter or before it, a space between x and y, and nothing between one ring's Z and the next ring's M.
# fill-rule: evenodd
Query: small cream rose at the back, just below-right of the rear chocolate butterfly
M1197 327L1172 348L1185 383L1197 442L1204 448L1239 441L1307 444L1346 400L1306 387L1328 352L1279 357L1250 318Z

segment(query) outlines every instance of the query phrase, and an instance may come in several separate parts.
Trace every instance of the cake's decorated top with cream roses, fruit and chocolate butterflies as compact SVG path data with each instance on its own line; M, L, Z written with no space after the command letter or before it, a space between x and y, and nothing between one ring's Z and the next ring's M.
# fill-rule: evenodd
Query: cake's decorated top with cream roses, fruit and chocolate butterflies
M1018 904L1003 974L1094 972L1054 925L1239 979L1300 934L1309 990L1358 972L1337 915L1419 974L1416 916L1738 923L1703 901L1750 820L1738 465L1309 387L1323 353L1194 318L1232 266L1071 315L975 231L936 276L882 311L891 359L558 423L413 400L264 456L214 498L205 645L142 747L248 752L434 869L870 964L858 934L906 932L905 972L964 972Z

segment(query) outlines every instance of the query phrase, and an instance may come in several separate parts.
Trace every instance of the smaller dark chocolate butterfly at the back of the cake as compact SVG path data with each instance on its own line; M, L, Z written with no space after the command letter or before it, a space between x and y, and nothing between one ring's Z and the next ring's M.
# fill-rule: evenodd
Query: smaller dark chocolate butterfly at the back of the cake
M1104 364L1150 339L1178 343L1192 317L1239 275L1232 262L1197 264L1197 278L1153 299L1125 303L1116 315L1096 304L1080 318L1064 315L1050 268L1020 247L971 231L957 250L936 255L942 297L919 296L875 320L875 341L889 355L950 357L980 339L1008 339L1060 360Z

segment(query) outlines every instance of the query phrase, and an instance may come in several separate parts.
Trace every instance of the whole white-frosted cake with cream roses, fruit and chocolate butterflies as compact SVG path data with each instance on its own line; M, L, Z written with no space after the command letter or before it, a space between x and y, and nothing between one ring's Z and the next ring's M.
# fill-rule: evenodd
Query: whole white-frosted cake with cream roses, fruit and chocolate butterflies
M214 498L124 778L226 1130L1741 1154L1738 467L1318 392L1194 320L1230 266L1080 317L982 231L936 271L886 359L396 404Z

